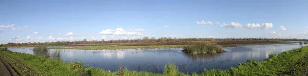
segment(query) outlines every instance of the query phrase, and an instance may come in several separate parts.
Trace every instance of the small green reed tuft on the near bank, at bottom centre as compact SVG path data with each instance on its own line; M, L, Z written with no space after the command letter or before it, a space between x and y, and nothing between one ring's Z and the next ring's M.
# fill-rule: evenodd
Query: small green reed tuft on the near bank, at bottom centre
M167 63L164 67L164 74L167 75L176 75L177 74L177 66L173 63Z

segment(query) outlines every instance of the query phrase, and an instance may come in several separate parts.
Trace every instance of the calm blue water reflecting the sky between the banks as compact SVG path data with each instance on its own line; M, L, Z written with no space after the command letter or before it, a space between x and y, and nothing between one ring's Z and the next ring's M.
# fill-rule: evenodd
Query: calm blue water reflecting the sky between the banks
M172 62L177 65L180 72L201 73L205 69L228 69L244 63L248 59L263 61L268 58L268 54L281 53L301 46L294 44L277 45L257 45L242 47L223 48L227 52L206 53L198 55L187 55L179 49L121 49L121 50L71 50L71 49L50 49L50 51L61 51L61 59L64 62L78 62L81 60L84 66L103 68L115 71L120 64L129 70L149 71L162 73L164 65ZM11 47L14 52L24 52L33 54L33 47ZM158 71L155 66L160 70Z

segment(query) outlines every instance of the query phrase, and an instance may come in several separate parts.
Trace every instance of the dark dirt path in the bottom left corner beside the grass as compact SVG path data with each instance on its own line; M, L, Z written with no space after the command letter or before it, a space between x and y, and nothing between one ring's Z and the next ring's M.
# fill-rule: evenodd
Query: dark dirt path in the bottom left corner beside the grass
M21 75L0 57L0 76Z

